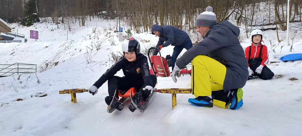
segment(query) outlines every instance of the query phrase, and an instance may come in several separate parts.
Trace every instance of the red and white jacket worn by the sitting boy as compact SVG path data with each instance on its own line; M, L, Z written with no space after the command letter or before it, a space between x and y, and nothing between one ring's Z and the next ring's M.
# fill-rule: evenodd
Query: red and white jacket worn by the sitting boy
M250 59L259 57L261 45L262 45L261 43L257 46L252 44ZM249 62L249 47L246 47L246 50L245 50L245 56L246 56L247 62ZM263 47L262 47L261 59L262 59L261 65L265 66L268 63L268 52L267 52L267 47L265 45L263 45ZM248 64L248 66L249 66L249 64Z

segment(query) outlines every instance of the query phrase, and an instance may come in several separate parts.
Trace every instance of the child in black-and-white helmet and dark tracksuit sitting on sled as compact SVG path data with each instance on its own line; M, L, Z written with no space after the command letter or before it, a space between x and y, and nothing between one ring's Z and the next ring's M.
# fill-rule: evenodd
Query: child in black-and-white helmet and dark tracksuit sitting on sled
M105 102L110 105L114 99L111 106L119 111L124 108L124 104L119 101L118 93L114 96L115 91L127 91L134 87L138 91L133 99L137 105L141 105L152 93L156 84L156 76L150 75L147 57L140 53L140 43L136 39L130 37L124 40L122 51L124 56L117 60L88 90L89 93L95 95L98 88L108 80L109 96L105 98ZM120 69L123 70L124 76L114 76Z

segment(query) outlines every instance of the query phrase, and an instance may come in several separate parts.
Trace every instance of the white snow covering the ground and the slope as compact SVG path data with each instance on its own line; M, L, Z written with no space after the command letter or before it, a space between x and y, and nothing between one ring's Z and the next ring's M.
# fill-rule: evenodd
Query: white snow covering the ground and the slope
M0 135L300 135L302 63L301 60L281 62L279 58L302 53L302 37L296 35L294 52L289 52L290 46L285 45L286 32L282 31L279 31L283 39L280 44L275 31L264 32L268 50L275 49L269 53L270 62L275 63L268 64L275 77L248 80L243 88L244 105L238 110L193 106L188 103L188 98L194 98L191 94L178 94L177 106L172 110L171 95L157 93L144 113L132 113L126 105L122 111L108 114L104 102L108 95L107 83L99 88L97 95L80 93L77 94L78 103L71 103L70 95L59 95L59 90L88 89L113 64L109 60L110 53L121 52L122 42L114 33L114 24L114 21L97 19L88 21L88 27L74 24L68 32L68 40L63 25L57 29L55 24L45 22L31 27L11 24L28 39L29 30L39 31L39 40L0 43L0 64L30 63L47 70L0 78ZM142 50L155 46L158 40L149 32L133 37L141 41ZM97 42L101 43L100 50L95 47L91 50L91 45ZM244 39L242 47L250 43L249 39ZM165 47L162 56L172 55L172 52L172 46ZM87 59L89 56L91 59ZM58 65L54 66L56 62ZM123 73L119 71L116 75ZM158 77L157 88L190 88L190 81L188 75L179 77L177 83L171 77ZM47 96L32 96L39 92Z

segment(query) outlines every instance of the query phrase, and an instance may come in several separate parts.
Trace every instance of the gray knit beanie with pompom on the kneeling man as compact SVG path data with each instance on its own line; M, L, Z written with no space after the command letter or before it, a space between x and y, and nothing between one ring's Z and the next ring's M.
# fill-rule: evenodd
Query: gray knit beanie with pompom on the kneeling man
M216 15L213 13L213 8L208 6L206 11L199 14L196 18L196 26L213 26L217 24Z

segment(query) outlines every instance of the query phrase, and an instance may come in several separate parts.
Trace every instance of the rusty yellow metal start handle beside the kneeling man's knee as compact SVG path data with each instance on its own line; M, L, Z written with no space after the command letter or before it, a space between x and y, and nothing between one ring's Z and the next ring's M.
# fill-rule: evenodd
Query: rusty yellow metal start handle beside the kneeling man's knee
M177 93L191 93L191 89L180 89L180 88L171 88L171 89L157 89L157 92L160 93L170 93L172 94L172 109L176 106L176 94Z

